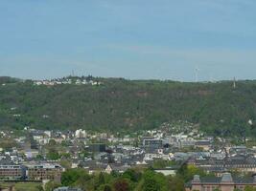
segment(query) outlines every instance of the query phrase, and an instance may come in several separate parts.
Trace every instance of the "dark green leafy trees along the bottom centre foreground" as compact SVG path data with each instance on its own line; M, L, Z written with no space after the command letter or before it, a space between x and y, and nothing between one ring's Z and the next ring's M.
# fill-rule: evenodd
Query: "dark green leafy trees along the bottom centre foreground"
M123 175L113 175L89 175L84 169L69 169L62 173L61 184L90 191L184 191L182 179L165 177L151 169L129 169Z

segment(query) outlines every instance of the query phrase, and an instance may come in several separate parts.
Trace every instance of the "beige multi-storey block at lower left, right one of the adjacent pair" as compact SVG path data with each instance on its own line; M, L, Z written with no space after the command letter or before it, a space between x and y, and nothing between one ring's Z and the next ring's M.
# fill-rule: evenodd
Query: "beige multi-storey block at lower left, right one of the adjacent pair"
M63 168L58 164L29 165L27 170L28 180L56 180L60 182Z

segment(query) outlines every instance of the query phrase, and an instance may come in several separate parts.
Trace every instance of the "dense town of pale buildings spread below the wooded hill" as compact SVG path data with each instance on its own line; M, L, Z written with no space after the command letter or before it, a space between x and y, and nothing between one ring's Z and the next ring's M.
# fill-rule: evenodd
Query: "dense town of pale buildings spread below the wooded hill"
M256 173L256 147L253 144L238 145L232 143L232 139L205 136L197 125L187 121L164 123L157 130L127 135L82 129L45 131L29 127L18 134L1 131L0 135L0 179L7 182L37 181L45 185L54 181L60 184L61 175L67 169L77 168L93 175L122 174L130 168L151 167L156 173L175 176L186 164L216 179L216 182L204 182L195 175L194 180L186 184L186 190L204 190L203 183L207 190L214 190L227 185L226 181L228 186L231 183L231 187L239 186L242 190L256 184L256 178L237 182L227 173L251 176ZM245 141L250 142L249 138ZM68 189L71 188L56 188Z

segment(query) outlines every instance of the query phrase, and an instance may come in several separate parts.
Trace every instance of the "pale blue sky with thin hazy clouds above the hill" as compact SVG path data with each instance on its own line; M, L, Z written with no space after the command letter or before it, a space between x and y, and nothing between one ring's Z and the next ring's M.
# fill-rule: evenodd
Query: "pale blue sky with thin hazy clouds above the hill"
M256 78L255 0L1 0L0 75Z

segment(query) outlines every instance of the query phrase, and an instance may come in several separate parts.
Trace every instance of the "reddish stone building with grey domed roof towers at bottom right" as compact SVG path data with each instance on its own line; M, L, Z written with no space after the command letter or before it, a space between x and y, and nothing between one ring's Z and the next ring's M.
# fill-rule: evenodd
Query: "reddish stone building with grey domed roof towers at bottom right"
M244 190L246 186L256 187L256 176L242 179L233 179L230 173L224 173L221 178L202 178L198 175L187 184L187 191L214 191L220 189L221 191L234 191L235 189Z

